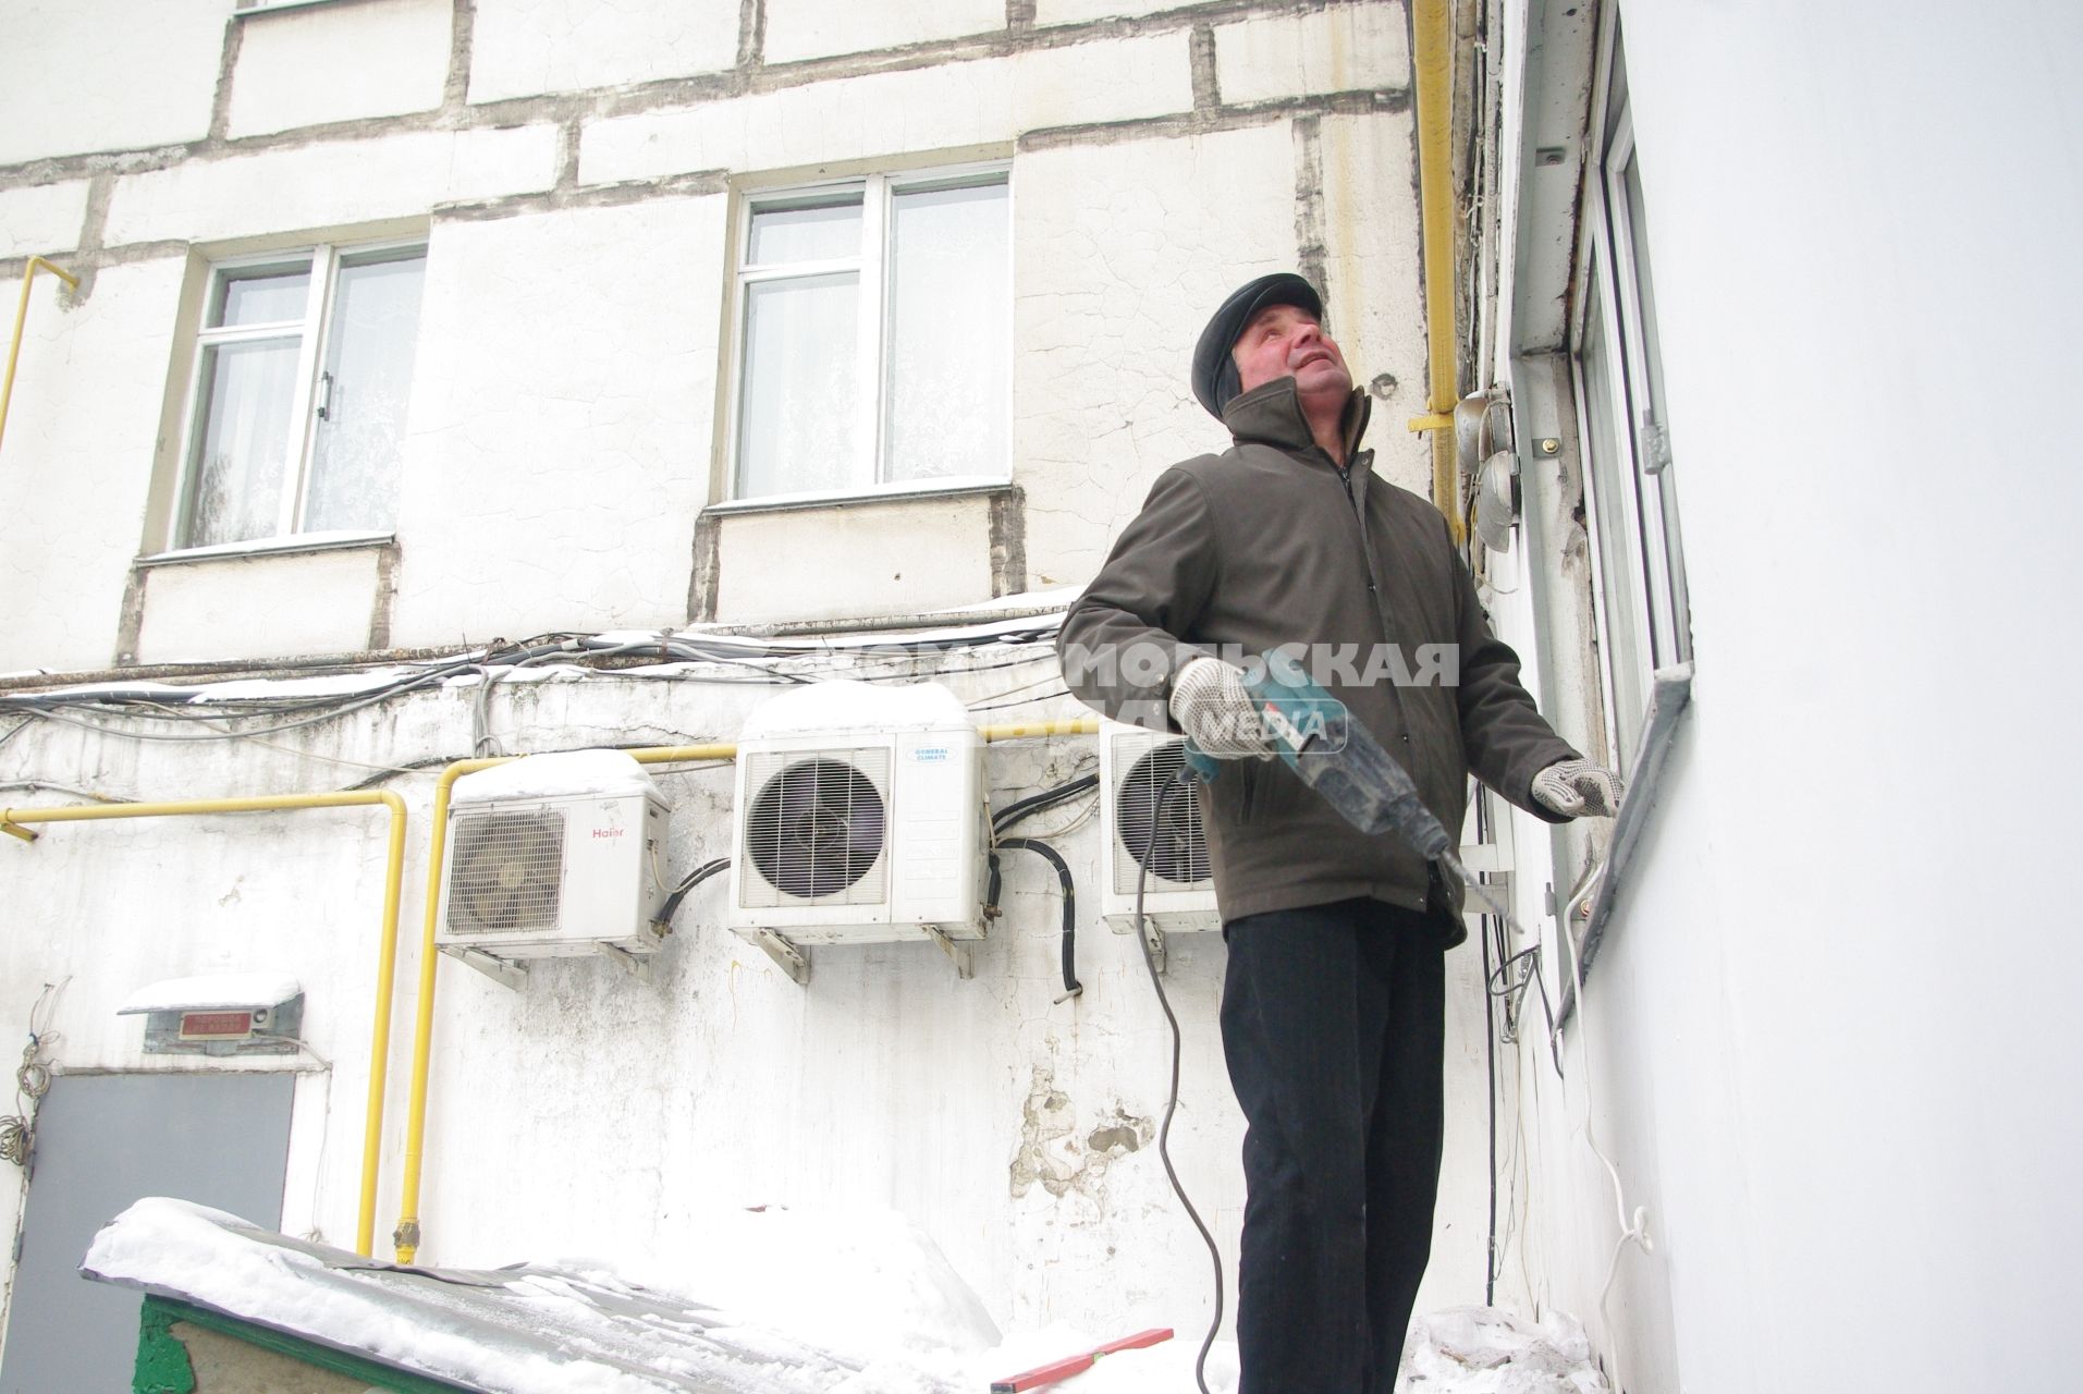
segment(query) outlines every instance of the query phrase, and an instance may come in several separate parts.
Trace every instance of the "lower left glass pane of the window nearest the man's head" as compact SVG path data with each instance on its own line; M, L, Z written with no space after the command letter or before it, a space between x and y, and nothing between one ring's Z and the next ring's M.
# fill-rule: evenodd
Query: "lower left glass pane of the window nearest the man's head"
M746 288L737 490L837 490L852 475L860 277Z

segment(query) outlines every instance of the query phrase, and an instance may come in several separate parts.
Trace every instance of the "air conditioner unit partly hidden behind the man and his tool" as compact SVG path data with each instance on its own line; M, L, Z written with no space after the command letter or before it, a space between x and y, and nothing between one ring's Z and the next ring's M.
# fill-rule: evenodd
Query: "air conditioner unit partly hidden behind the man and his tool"
M1158 800L1179 773L1185 742L1141 727L1106 721L1100 725L1100 840L1104 850L1100 915L1116 934L1135 931L1135 886L1144 854L1144 915L1150 946L1162 967L1162 936L1179 929L1221 929L1214 881L1208 879L1208 838L1200 825L1200 794L1194 786Z

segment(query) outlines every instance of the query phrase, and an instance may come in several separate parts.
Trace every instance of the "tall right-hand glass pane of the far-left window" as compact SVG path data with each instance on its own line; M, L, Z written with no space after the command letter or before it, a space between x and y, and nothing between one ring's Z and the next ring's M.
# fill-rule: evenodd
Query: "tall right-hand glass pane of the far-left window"
M385 531L396 523L425 271L425 256L340 267L304 531Z

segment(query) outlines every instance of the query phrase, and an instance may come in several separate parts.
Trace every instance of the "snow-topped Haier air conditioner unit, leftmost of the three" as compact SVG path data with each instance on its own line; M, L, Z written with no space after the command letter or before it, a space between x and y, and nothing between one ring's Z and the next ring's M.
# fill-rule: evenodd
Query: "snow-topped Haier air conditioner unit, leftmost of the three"
M456 779L435 944L473 967L656 952L667 815L621 750L531 754Z

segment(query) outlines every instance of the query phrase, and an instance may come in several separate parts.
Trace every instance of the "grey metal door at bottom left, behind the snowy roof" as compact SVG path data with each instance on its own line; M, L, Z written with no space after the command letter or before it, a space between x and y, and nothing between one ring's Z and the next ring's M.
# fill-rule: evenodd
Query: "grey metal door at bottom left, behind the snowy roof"
M179 1196L275 1229L294 1075L58 1075L35 1159L0 1352L0 1394L125 1394L140 1294L87 1281L96 1229L142 1196Z

